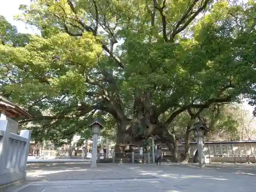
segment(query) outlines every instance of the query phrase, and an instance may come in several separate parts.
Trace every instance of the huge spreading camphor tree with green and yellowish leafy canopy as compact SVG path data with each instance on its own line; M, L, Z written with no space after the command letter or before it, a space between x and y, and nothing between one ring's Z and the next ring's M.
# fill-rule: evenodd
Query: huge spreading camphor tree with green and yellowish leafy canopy
M195 119L253 97L255 1L34 0L20 9L40 35L15 45L1 36L1 94L64 135L101 112L115 120L117 144L158 135L177 153L167 128L180 113Z

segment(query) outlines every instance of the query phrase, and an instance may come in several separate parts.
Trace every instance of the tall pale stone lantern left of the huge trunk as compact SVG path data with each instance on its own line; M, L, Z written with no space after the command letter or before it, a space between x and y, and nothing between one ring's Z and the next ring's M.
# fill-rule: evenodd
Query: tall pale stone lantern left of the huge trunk
M97 167L98 136L100 134L100 130L103 127L103 124L98 118L94 118L93 122L89 126L92 127L92 132L93 132L93 150L92 150L91 167Z

